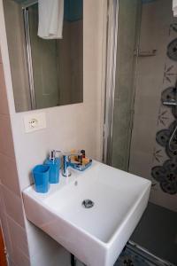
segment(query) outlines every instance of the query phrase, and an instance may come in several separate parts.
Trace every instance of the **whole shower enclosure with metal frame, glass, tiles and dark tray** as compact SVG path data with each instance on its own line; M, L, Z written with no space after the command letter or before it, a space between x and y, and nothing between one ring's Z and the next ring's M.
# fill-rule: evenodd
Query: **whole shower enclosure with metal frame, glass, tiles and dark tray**
M151 180L150 205L131 241L166 265L177 265L177 20L172 0L110 0L109 10L104 162Z

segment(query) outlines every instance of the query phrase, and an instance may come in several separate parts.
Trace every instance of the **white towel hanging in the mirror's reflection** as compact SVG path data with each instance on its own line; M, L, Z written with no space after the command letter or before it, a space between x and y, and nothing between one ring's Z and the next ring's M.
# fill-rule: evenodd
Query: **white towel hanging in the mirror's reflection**
M62 39L64 0L38 0L38 36L43 39Z

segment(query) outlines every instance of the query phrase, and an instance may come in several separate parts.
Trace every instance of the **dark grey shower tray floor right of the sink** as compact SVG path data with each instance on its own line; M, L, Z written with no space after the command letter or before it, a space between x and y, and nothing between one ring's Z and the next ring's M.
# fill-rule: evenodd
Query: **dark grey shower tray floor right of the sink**
M177 265L177 213L149 203L130 240Z

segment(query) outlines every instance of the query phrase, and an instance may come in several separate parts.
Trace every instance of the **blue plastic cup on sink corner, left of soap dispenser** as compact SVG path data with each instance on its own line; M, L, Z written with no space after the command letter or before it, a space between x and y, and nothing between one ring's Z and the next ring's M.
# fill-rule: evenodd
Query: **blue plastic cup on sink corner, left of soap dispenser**
M50 188L50 166L49 165L36 165L33 169L33 176L35 182L35 191L46 193Z

